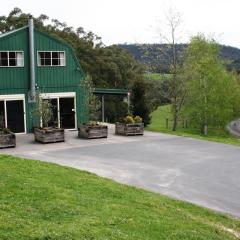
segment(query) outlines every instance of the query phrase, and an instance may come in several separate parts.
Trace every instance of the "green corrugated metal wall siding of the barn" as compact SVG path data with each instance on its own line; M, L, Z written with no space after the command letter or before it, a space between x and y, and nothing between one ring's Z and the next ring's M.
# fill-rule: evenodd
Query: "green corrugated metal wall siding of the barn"
M24 67L0 67L0 95L25 94L27 132L34 126L32 110L34 103L28 102L30 86L28 28L21 29L5 37L0 37L0 51L23 51ZM35 29L35 70L36 84L40 92L76 92L77 123L88 120L84 73L78 60L67 44ZM38 51L65 51L66 66L37 66Z

